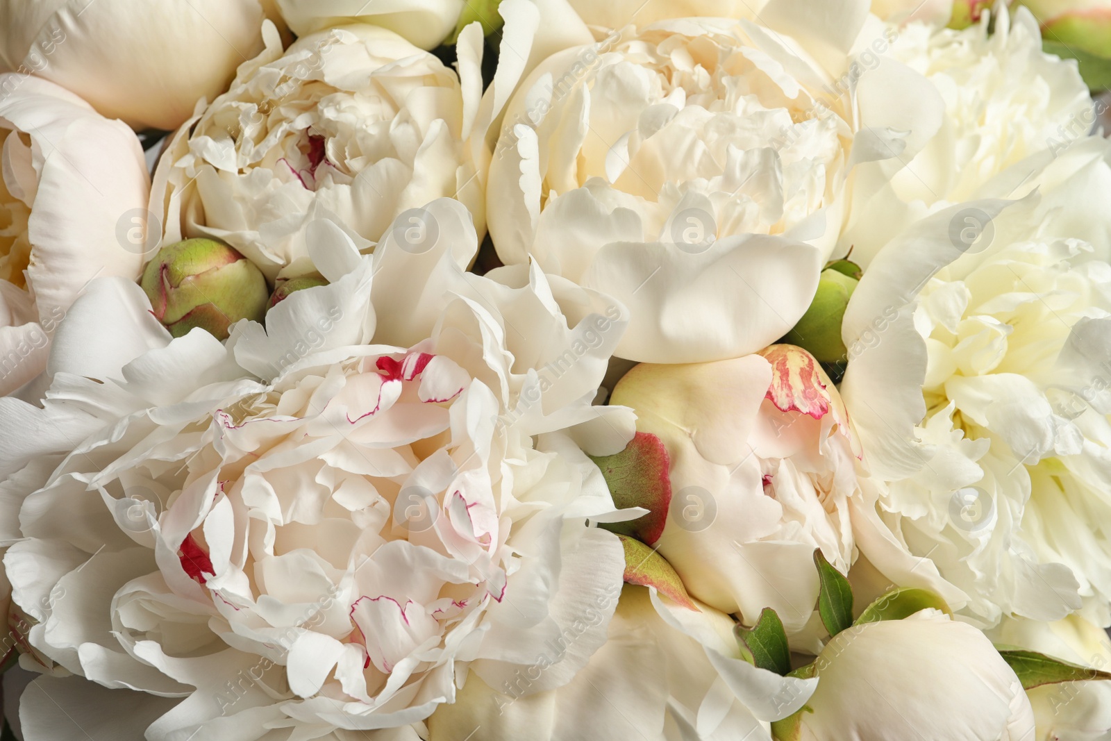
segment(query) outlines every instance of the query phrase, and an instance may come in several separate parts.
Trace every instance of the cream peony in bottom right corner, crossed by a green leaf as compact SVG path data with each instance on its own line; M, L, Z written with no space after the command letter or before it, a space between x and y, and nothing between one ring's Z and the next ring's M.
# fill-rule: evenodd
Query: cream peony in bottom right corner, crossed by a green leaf
M1080 615L1044 623L1007 619L992 631L997 643L1037 651L1069 663L1111 670L1111 639ZM1063 682L1027 690L1038 741L1098 741L1111 732L1111 682Z

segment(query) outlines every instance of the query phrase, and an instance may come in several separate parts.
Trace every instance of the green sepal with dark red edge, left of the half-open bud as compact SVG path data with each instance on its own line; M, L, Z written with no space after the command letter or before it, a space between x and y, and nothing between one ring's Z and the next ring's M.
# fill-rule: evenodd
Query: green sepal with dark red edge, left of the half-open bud
M653 544L663 534L671 507L671 463L668 449L654 434L638 432L614 455L590 457L602 471L618 509L643 507L648 514L625 522L600 522L599 528Z

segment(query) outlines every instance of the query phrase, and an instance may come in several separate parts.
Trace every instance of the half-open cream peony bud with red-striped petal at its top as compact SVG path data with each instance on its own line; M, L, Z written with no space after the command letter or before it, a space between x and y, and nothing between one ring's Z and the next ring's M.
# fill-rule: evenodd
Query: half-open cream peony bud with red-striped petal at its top
M637 412L670 459L671 504L653 543L694 598L743 622L773 608L788 634L818 599L813 552L854 559L849 500L860 454L837 388L805 351L640 364L612 403Z

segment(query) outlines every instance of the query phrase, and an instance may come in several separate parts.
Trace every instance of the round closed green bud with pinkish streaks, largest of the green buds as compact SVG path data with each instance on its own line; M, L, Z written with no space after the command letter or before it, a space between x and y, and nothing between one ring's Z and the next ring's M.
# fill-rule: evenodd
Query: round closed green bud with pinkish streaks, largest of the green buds
M227 244L187 239L163 247L143 270L142 290L170 334L194 327L219 340L240 319L261 321L267 310L267 279Z

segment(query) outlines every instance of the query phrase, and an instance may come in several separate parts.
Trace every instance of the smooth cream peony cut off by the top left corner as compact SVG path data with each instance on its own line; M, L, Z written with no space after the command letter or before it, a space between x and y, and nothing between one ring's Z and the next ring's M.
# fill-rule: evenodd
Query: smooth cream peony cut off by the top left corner
M173 129L262 50L259 0L6 0L0 71L33 72L137 129Z

